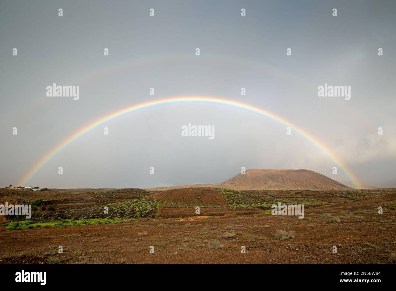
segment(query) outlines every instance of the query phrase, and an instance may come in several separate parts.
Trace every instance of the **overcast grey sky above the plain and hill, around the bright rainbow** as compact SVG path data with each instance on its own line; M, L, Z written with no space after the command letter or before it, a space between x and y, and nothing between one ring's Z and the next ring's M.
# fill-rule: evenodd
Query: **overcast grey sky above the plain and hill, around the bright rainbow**
M362 183L396 186L395 15L395 1L1 0L0 186L16 185L57 144L103 116L183 95L273 112L326 145ZM80 86L80 99L47 97L53 83ZM351 86L350 100L318 97L324 83ZM189 122L213 125L215 139L182 137ZM216 183L242 166L334 177L337 165L297 132L286 135L280 122L225 105L183 103L89 131L28 184ZM335 177L342 183L346 175L339 169Z

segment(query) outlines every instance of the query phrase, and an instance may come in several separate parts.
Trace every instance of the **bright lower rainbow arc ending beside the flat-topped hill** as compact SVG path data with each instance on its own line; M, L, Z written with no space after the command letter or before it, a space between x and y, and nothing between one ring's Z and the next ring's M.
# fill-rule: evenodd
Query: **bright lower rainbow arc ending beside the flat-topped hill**
M218 98L218 97L206 97L206 96L183 96L183 97L171 97L171 98L165 98L165 99L160 99L160 100L155 100L155 101L149 101L146 103L140 103L137 105L133 105L131 107L113 112L103 118L100 118L99 120L92 122L91 124L88 124L88 126L83 127L82 129L78 130L76 133L73 133L71 136L67 137L65 140L63 140L59 145L55 146L48 154L43 156L30 170L25 174L25 176L21 179L21 182L19 185L25 185L27 182L33 177L33 175L46 163L48 162L49 159L51 159L53 156L55 156L59 151L61 151L63 148L65 148L67 145L78 139L78 137L84 135L84 133L94 129L95 127L104 124L105 122L108 122L110 120L113 120L114 118L118 118L120 116L123 116L125 114L144 109L144 108L149 108L153 107L156 105L164 105L164 104L172 104L172 103L185 103L185 102L202 102L202 103L214 103L214 104L221 104L221 105L228 105L232 107L237 107L237 108L242 108L251 112L255 112L264 116L267 116L269 118L272 118L273 120L276 120L278 122L281 122L287 126L293 127L295 131L298 131L301 135L306 137L309 141L314 143L322 152L324 152L331 160L333 160L341 169L345 172L345 174L348 176L348 178L356 185L358 188L358 184L356 183L357 179L352 175L352 173L346 168L345 165L343 165L337 158L335 158L334 154L330 152L328 148L326 148L323 144L321 144L319 141L314 139L311 135L309 135L307 132L303 131L301 128L291 124L289 121L286 119L271 113L267 110L264 110L259 107L254 107L251 105L248 105L246 103L241 103L237 101L232 101L228 99L223 99L223 98Z

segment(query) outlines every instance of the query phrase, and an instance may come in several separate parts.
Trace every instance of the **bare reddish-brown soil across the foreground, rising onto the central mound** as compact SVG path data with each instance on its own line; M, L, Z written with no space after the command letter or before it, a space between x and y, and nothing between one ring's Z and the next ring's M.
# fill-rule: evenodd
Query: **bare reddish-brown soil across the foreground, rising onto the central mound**
M151 219L2 231L0 263L396 262L395 189L251 190L239 194L249 199L268 196L318 202L306 205L305 217L299 219L273 216L264 209L221 206L224 202L218 189L165 191L155 194L162 208ZM200 201L195 200L198 198ZM200 214L194 214L194 207L165 207L167 201L181 200L212 205L202 206ZM379 206L383 214L378 213ZM281 230L293 236L279 240L276 233ZM242 246L246 253L241 253ZM332 252L333 246L337 253Z

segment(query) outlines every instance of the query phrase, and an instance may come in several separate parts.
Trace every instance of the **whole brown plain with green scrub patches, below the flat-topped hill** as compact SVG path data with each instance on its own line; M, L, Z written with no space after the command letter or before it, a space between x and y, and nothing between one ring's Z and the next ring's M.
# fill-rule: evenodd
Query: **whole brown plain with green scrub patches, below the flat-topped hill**
M1 189L34 211L2 217L0 263L396 262L396 189L340 188Z

